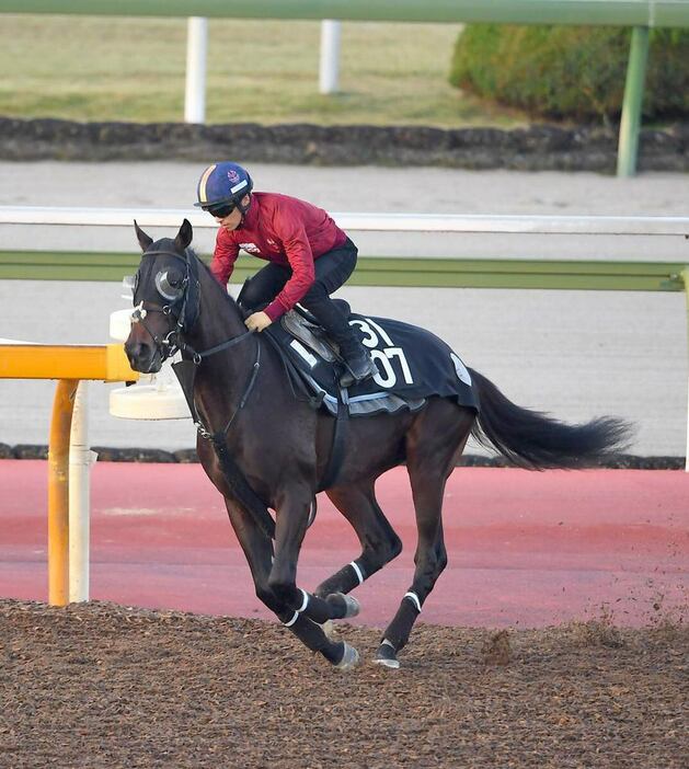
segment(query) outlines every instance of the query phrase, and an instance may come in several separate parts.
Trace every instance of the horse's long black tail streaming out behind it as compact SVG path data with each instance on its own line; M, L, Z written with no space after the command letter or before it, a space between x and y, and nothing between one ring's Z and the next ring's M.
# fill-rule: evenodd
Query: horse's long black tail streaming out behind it
M486 448L529 470L581 468L610 460L631 438L631 426L604 416L569 425L509 401L484 376L469 369L479 392L480 412L471 431Z

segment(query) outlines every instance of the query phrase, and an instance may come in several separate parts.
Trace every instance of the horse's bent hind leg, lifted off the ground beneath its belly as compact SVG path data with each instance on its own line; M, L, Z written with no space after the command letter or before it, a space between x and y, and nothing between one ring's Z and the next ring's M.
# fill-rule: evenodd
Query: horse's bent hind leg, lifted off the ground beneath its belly
M338 486L326 492L356 531L361 554L315 588L315 595L321 598L349 593L402 552L402 541L376 501L375 481L375 478L367 479L356 485Z

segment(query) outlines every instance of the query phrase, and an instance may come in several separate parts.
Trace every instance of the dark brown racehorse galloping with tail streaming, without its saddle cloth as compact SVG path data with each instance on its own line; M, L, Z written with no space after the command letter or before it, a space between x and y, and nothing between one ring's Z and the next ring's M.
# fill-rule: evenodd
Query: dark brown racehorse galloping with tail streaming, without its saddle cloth
M383 472L406 466L417 528L412 582L375 655L375 662L397 668L447 564L445 484L470 435L510 464L537 470L590 466L628 440L629 425L620 420L565 424L512 403L487 378L467 369L478 411L434 397L418 411L351 420L336 475L326 480L337 420L296 397L266 332L246 330L238 303L191 249L191 223L185 219L174 239L156 241L134 225L142 254L125 342L130 366L156 372L181 352L175 366L191 371L184 389L198 427L198 458L225 498L256 596L336 668L354 667L359 655L331 638L326 623L358 613L349 593L402 550L376 500L376 479ZM361 550L307 592L297 584L297 562L320 491L352 525Z

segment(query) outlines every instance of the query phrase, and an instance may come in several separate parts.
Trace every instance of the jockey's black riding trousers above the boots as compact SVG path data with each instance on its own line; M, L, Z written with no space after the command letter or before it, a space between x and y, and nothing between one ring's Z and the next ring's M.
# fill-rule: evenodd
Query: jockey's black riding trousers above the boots
M342 245L315 259L313 261L315 280L299 300L299 303L317 318L338 344L347 345L357 337L330 295L336 291L354 272L357 253L356 245L347 238ZM268 263L244 286L242 306L251 310L265 307L275 299L290 277L290 267L274 262Z

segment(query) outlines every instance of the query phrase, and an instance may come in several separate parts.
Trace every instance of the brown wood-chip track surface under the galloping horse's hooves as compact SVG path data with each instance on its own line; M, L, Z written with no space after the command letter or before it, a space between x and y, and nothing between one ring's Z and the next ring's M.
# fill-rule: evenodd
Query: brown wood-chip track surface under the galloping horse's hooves
M0 601L0 767L686 767L689 632L421 624L343 675L276 623Z

